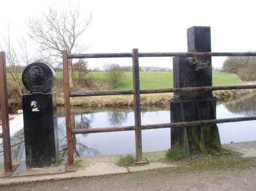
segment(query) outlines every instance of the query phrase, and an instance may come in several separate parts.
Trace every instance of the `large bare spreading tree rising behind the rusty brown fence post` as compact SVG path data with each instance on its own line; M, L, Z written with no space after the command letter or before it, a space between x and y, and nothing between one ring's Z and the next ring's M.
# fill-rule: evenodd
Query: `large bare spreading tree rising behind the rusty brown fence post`
M30 36L42 50L49 55L61 58L61 51L67 50L72 53L83 52L88 48L79 43L79 38L90 25L92 14L88 19L81 17L78 8L70 11L60 11L49 8L42 17L29 20ZM69 63L70 86L72 82L72 60Z

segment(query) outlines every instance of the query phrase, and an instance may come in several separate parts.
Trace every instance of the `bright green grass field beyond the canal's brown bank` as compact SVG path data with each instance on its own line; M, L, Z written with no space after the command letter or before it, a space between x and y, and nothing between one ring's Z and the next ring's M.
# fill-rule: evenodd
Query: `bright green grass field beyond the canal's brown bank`
M62 78L62 73L56 73L57 78ZM106 72L90 72L88 76L93 80L100 80L102 82L108 82L106 78ZM77 79L77 73L73 75L74 79ZM236 74L225 72L213 72L213 85L225 86L232 84L243 83ZM172 88L173 87L173 73L172 72L140 72L140 88ZM116 89L132 89L132 72L124 72L124 79L122 85Z

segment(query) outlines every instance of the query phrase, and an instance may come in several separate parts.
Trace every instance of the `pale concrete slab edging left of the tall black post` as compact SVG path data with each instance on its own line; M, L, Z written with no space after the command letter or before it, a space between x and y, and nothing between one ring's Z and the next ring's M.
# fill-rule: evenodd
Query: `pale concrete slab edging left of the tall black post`
M33 171L36 171L35 174L37 173L36 176L24 176L24 174L28 174L28 171L24 171L24 169L18 169L17 171L19 171L19 173L17 173L17 171L13 172L13 177L0 178L0 185L10 185L12 183L26 183L45 180L63 180L66 178L92 177L106 174L120 174L176 166L172 164L165 164L164 162L159 162L159 160L165 157L165 151L144 153L143 156L147 158L149 164L134 165L131 167L120 167L117 165L120 155L112 155L102 157L81 157L78 160L76 172L63 173L64 166L62 165L58 168L33 169ZM24 168L24 165L20 165L20 168ZM39 176L38 171L50 171L54 174ZM60 173L56 173L58 171Z

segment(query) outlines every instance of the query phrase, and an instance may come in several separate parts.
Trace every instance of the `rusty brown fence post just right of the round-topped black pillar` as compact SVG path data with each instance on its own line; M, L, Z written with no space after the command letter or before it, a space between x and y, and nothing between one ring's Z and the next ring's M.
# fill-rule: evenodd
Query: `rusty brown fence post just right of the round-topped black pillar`
M67 131L67 153L68 153L68 168L74 165L73 143L72 143L72 126L70 116L70 87L69 87L69 73L68 73L68 52L62 52L63 57L63 90L64 90L64 107L65 120Z

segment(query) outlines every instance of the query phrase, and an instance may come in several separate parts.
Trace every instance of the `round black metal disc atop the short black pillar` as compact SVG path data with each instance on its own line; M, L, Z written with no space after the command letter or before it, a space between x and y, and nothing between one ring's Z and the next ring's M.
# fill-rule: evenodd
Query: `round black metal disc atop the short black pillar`
M22 82L30 93L48 93L54 86L55 72L44 63L32 63L22 73Z

